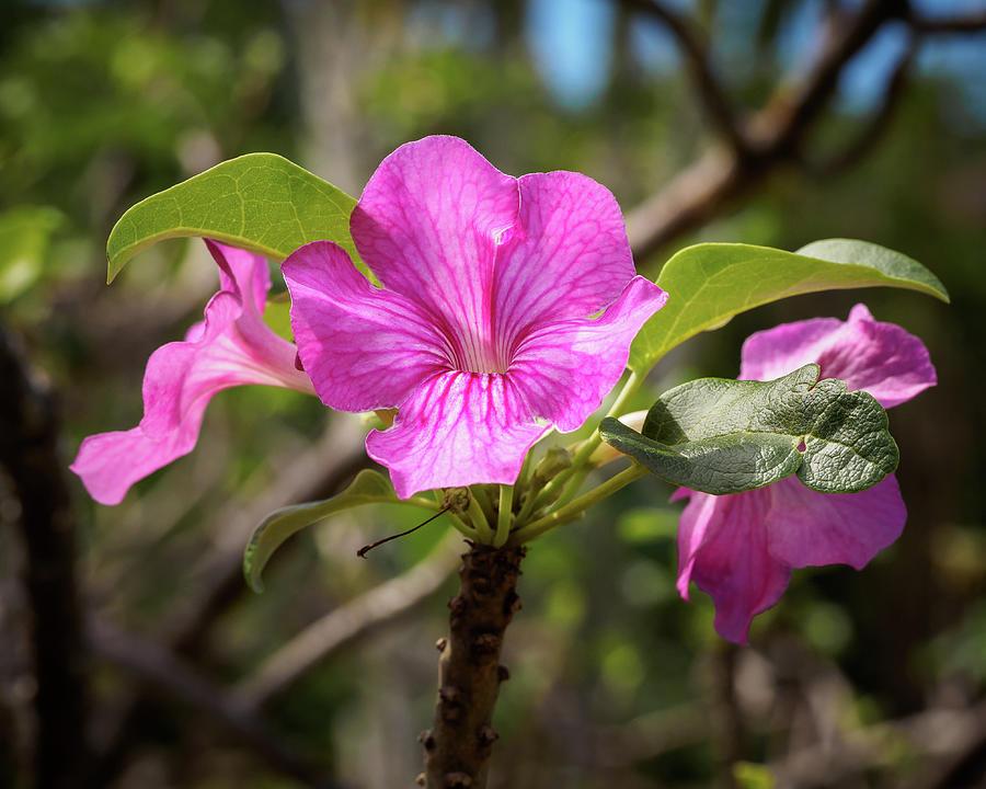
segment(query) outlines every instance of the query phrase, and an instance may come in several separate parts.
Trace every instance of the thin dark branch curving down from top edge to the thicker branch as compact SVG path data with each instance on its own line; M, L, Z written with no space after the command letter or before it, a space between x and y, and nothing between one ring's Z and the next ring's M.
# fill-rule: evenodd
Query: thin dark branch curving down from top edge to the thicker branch
M746 150L746 138L736 121L730 98L712 69L709 46L700 32L687 18L658 0L621 0L621 2L627 8L640 11L667 28L681 52L696 92L716 134L734 151Z

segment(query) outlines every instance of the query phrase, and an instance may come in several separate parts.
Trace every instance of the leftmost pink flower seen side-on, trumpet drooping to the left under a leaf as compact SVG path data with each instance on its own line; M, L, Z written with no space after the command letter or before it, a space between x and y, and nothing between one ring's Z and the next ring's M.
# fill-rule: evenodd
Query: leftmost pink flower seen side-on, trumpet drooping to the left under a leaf
M213 396L243 384L311 392L296 369L295 346L263 322L271 277L257 255L206 241L219 266L219 293L184 341L159 347L144 376L144 419L129 431L82 442L71 466L90 495L118 504L130 485L187 455Z

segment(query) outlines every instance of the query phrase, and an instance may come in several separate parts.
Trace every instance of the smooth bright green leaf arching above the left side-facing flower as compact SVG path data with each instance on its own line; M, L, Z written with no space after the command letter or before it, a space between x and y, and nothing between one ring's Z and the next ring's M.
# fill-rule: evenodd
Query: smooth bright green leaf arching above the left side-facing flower
M213 238L275 261L310 241L329 240L362 266L349 236L355 205L345 192L284 157L248 153L129 208L106 242L107 282L141 250L188 236Z

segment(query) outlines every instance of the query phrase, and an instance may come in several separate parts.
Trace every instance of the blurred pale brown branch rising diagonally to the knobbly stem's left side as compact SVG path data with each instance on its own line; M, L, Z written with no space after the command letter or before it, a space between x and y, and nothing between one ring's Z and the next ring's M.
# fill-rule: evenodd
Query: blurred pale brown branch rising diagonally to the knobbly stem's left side
M240 685L236 691L239 704L249 709L263 706L330 655L415 610L451 575L459 563L454 547L460 545L458 533L451 531L448 539L404 574L343 604L302 630Z

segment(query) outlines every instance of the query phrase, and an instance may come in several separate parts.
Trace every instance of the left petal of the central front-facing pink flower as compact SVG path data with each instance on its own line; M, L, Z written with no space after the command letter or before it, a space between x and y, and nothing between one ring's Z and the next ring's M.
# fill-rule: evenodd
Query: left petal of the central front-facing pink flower
M423 309L372 287L334 243L300 248L283 272L295 342L326 405L397 408L424 379L448 368L447 343Z

